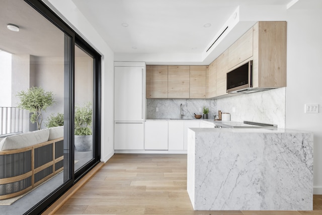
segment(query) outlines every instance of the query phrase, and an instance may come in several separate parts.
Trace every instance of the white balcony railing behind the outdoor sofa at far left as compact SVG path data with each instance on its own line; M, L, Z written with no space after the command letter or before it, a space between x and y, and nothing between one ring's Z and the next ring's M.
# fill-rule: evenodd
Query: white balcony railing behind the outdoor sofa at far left
M0 137L23 131L23 109L0 107Z

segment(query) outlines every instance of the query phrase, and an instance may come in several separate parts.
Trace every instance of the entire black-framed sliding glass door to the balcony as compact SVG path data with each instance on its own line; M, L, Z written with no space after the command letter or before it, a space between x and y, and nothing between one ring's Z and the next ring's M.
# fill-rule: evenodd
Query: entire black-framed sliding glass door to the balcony
M101 56L38 0L0 24L0 213L40 214L100 161Z

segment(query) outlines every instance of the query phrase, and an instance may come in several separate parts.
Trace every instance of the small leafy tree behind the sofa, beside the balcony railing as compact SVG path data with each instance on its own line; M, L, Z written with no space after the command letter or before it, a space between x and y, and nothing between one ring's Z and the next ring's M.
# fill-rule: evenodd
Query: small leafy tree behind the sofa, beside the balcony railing
M41 87L32 87L27 91L21 91L17 95L20 99L18 107L28 110L31 113L30 122L37 122L38 130L41 129L42 111L55 104L52 92L45 92Z

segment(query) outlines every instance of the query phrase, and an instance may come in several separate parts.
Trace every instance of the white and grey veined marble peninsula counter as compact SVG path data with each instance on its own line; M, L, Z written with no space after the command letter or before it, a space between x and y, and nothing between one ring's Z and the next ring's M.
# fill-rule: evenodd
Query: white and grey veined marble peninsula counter
M195 210L312 210L313 134L188 129L187 190Z

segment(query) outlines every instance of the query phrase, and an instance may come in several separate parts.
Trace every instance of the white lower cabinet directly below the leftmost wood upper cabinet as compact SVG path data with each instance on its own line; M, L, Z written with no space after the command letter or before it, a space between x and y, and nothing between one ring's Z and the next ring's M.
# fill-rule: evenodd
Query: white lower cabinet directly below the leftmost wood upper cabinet
M145 150L168 150L168 121L145 121Z

